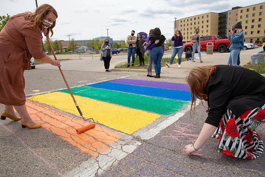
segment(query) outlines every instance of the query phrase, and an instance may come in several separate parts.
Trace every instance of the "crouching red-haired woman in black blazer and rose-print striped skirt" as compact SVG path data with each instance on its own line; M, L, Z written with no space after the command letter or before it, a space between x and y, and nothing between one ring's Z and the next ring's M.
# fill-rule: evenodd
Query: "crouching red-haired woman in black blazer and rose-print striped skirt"
M265 122L265 78L246 68L215 65L193 68L187 82L191 109L197 98L204 100L208 117L196 142L185 146L186 153L196 152L212 136L222 154L258 158L263 141L256 128Z

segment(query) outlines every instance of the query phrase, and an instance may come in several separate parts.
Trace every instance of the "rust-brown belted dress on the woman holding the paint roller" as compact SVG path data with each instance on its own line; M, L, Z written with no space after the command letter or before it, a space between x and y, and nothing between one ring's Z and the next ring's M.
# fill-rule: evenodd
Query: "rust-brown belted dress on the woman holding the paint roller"
M24 93L24 71L30 69L30 59L46 56L42 51L42 32L24 19L27 13L10 17L0 32L0 103L22 106L26 102Z

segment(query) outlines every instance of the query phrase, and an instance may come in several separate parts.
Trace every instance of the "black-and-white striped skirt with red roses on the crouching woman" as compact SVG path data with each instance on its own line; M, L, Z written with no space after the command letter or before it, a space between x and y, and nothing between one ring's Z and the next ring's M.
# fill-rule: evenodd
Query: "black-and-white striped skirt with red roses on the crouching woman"
M212 136L219 139L216 150L237 158L258 158L263 152L263 141L255 129L261 123L265 123L265 104L239 117L227 109Z

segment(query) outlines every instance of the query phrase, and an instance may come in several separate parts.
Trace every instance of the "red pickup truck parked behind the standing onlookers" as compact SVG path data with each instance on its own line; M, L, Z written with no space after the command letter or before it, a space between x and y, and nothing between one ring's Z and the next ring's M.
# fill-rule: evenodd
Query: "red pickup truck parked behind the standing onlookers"
M201 51L206 51L206 45L208 42L213 42L213 51L218 51L220 53L226 52L227 47L230 45L229 39L219 39L218 35L207 35L201 36ZM184 51L192 51L192 42L187 42L184 44Z

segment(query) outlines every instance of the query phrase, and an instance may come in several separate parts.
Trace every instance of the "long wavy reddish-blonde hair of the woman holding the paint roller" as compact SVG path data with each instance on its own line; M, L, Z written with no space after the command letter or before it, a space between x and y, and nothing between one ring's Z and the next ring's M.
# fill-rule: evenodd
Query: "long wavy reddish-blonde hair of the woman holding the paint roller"
M57 14L56 10L51 5L42 4L41 6L36 8L34 13L29 12L24 17L24 19L30 19L30 21L33 23L32 27L40 27L42 29L41 21L42 21L42 19L44 19L45 15L49 11L51 11L56 16L56 18L58 18L58 14ZM56 24L56 21L54 21L52 26L47 29L46 34L49 34L49 32L51 31L52 35L53 35L53 30L52 29L55 27L55 24ZM51 37L52 37L52 35L51 35Z

